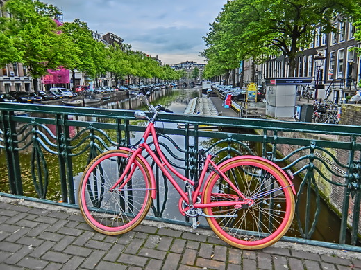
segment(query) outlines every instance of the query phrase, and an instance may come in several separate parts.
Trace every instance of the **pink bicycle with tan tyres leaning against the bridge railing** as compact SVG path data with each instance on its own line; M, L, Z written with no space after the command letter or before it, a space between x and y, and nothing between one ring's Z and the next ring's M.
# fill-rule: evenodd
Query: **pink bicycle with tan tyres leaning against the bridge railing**
M203 168L192 181L167 161L158 143L155 122L161 105L146 105L153 113L135 111L149 123L135 149L119 147L96 156L87 165L78 190L78 203L86 222L106 235L131 231L142 222L156 198L153 170L142 152L151 156L178 191L178 208L198 226L205 217L210 228L228 244L242 249L262 249L287 232L294 217L294 186L278 165L258 156L236 156L220 164L212 154L199 151ZM156 153L147 141L153 139ZM178 185L173 175L185 183Z

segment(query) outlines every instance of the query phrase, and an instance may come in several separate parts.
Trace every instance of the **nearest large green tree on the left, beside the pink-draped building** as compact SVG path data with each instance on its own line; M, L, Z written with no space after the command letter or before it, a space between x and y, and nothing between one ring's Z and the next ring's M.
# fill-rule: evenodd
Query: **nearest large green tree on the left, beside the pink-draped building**
M55 70L74 61L72 41L59 32L56 21L51 19L60 14L54 6L40 1L9 0L5 8L12 17L4 20L2 34L8 38L10 52L14 53L1 62L22 62L37 92L37 79L46 75L48 69Z

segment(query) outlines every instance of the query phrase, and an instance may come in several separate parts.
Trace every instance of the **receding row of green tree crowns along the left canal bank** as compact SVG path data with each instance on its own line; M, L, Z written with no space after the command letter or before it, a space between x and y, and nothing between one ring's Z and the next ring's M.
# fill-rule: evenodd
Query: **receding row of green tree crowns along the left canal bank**
M22 62L37 79L48 70L65 67L92 78L111 72L116 80L124 75L175 80L176 71L161 66L143 52L132 51L128 44L110 46L96 41L87 24L79 19L61 24L58 8L40 1L9 0L3 7L12 16L0 17L0 64ZM74 74L74 72L73 72Z

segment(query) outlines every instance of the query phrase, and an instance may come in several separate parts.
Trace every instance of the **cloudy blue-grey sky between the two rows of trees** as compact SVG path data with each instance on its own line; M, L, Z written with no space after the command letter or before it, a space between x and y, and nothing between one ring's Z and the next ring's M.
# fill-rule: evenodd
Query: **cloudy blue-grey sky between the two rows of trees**
M108 32L134 51L163 64L205 63L202 37L227 0L42 0L62 9L64 21L80 19L90 30Z

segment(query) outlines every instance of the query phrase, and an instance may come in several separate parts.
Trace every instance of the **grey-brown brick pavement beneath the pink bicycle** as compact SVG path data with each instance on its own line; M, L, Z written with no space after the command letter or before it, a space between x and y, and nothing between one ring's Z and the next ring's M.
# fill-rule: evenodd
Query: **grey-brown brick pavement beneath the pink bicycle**
M235 249L211 231L144 221L107 236L79 210L0 197L0 269L361 269L361 253L277 242Z

